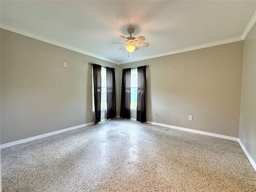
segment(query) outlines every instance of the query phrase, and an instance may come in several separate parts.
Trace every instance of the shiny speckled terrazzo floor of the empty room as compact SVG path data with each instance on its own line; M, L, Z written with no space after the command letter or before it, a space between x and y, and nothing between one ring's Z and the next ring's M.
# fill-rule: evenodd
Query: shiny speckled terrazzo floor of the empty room
M3 192L256 192L238 142L109 120L1 150Z

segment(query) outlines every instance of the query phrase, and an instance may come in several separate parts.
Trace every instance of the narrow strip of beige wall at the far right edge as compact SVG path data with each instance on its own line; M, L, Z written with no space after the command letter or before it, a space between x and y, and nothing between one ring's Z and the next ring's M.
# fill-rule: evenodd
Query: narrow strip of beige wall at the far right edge
M239 139L256 162L256 25L244 40Z

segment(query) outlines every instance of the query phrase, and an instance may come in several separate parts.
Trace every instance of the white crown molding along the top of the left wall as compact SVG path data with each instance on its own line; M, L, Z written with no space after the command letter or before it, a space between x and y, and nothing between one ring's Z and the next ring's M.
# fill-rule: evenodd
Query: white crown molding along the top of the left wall
M28 36L28 37L31 37L31 38L34 38L34 39L37 39L37 40L40 40L40 41L43 41L43 42L46 42L46 43L50 43L50 44L53 44L53 45L56 45L56 46L59 46L59 47L62 47L62 48L66 48L66 49L69 49L69 50L72 50L72 51L75 51L75 52L78 52L78 53L82 53L82 54L85 54L85 55L88 55L88 56L92 56L92 57L95 57L95 58L98 58L98 59L101 59L101 60L104 60L104 61L108 61L108 62L112 62L114 64L117 64L117 62L114 61L114 60L103 58L103 57L100 57L98 55L92 54L90 52L84 51L82 49L75 48L75 47L60 43L60 42L56 42L54 40L50 40L48 38L44 38L42 36L35 35L35 34L29 33L29 32L25 32L23 30L20 30L20 29L17 29L17 28L14 28L14 27L11 27L11 26L8 26L8 25L5 25L5 24L1 24L0 28L11 31L11 32L14 32L14 33L18 33L18 34L21 34L21 35L24 35L24 36Z

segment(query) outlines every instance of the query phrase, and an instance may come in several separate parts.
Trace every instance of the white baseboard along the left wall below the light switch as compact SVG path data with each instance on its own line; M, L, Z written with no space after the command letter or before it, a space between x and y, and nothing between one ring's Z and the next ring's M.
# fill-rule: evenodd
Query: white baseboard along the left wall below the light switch
M50 133L46 133L46 134L42 134L42 135L30 137L30 138L26 138L26 139L21 139L21 140L18 140L18 141L13 141L13 142L10 142L10 143L5 143L5 144L0 145L0 148L3 149L3 148L6 148L6 147L11 147L11 146L14 146L14 145L30 142L30 141L33 141L33 140L41 139L41 138L44 138L44 137L56 135L56 134L59 134L59 133L63 133L63 132L66 132L66 131L71 131L71 130L74 130L74 129L78 129L78 128L82 128L82 127L86 127L86 126L94 125L94 124L95 124L94 122L90 122L90 123L86 123L86 124L82 124L82 125L78 125L78 126L74 126L74 127L70 127L70 128L66 128L66 129L61 129L61 130L58 130L58 131L54 131L54 132L50 132Z

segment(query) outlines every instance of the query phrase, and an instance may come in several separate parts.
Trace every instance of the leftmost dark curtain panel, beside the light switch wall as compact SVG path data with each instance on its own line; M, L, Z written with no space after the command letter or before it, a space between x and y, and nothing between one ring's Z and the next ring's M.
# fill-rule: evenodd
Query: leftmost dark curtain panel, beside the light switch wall
M94 90L94 114L95 124L100 122L101 103L101 65L92 64L93 68L93 90Z

